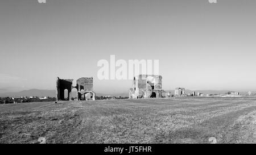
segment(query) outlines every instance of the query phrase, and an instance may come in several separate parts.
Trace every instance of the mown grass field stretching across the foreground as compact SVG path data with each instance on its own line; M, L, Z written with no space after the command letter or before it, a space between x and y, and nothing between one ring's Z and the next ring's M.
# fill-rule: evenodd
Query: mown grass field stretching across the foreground
M173 98L0 105L0 143L256 142L256 99Z

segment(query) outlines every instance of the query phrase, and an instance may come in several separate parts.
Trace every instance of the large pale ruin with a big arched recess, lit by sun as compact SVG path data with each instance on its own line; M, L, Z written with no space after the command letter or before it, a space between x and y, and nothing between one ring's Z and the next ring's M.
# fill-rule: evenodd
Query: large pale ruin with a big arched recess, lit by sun
M129 98L163 98L166 92L162 89L162 76L139 75L133 79L133 88Z

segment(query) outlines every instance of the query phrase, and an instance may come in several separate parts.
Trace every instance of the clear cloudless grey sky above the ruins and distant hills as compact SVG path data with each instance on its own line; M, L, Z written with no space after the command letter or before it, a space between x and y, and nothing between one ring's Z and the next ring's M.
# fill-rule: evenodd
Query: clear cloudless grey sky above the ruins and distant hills
M99 60L159 60L163 89L256 90L254 0L0 1L0 93L55 89L56 77L100 80Z

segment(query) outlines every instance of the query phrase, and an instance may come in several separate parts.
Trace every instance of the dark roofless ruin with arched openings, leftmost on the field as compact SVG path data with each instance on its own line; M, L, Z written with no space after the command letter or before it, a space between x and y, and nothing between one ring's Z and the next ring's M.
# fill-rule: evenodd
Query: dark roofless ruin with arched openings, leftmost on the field
M72 86L73 79L56 79L56 99L71 100L72 89L77 90L77 100L81 100L84 96L85 100L95 100L96 93L93 91L93 77L82 77L77 79L76 86ZM68 91L68 97L65 98L64 92ZM83 90L83 91L82 91Z

